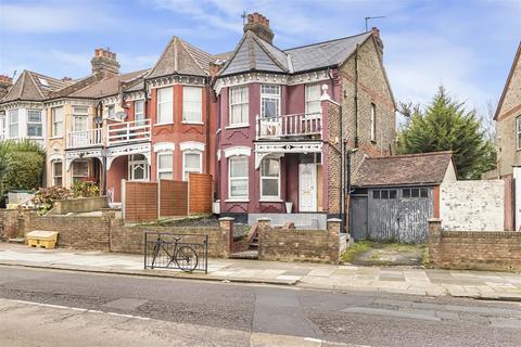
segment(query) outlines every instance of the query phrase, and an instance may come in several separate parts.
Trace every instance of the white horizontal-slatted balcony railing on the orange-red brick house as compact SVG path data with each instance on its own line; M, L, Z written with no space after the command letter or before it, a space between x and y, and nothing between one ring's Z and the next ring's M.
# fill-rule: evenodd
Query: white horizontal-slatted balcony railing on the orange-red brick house
M110 124L106 129L106 145L150 141L150 119Z

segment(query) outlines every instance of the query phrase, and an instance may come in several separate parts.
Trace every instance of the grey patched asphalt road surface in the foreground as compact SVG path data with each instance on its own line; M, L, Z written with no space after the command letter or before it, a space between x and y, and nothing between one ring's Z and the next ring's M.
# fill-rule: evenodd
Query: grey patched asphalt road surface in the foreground
M521 346L521 304L0 267L0 346Z

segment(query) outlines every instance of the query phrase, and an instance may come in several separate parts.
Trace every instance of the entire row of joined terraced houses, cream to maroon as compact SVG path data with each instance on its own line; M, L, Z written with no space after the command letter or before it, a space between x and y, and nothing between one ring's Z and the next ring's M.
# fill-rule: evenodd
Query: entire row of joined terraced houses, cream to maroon
M85 78L0 76L0 136L45 145L46 185L93 180L119 203L122 180L211 174L224 216L326 229L346 215L351 172L393 152L383 43L377 28L284 50L272 39L254 13L230 53L174 37L144 70L122 74L97 49Z

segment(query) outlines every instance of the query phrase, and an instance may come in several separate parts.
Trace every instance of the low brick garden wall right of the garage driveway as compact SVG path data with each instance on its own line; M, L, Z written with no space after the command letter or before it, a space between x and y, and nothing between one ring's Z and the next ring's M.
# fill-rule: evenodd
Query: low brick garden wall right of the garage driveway
M446 269L521 270L521 232L445 231L429 221L431 266Z

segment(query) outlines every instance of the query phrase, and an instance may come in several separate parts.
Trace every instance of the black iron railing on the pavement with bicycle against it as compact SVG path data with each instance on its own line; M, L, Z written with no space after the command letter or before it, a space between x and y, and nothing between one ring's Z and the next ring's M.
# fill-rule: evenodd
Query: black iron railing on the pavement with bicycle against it
M208 273L208 235L147 231L144 269Z

